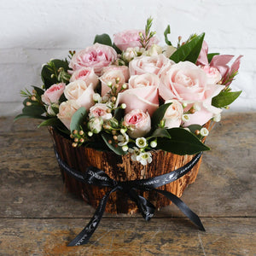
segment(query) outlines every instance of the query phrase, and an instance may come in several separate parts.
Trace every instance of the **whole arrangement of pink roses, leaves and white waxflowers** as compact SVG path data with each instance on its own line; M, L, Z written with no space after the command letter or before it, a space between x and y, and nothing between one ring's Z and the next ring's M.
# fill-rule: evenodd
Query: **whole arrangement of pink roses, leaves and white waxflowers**
M93 45L69 51L69 61L50 60L43 86L20 92L26 99L16 119L43 119L39 126L53 126L73 147L130 153L143 165L153 149L208 150L204 125L218 122L241 94L230 89L241 56L209 54L204 33L179 37L173 46L170 26L162 47L151 26L149 18L144 30L119 32L113 43L108 34L97 35Z

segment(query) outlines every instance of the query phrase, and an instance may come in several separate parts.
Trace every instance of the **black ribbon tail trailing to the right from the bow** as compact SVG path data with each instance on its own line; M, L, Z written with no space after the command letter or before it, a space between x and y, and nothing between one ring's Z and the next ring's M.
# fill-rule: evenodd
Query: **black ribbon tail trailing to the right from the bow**
M206 231L203 224L201 223L201 219L195 214L195 212L191 211L190 208L176 195L173 195L171 192L155 189L155 191L159 192L162 195L165 195L169 200L171 200L200 230Z

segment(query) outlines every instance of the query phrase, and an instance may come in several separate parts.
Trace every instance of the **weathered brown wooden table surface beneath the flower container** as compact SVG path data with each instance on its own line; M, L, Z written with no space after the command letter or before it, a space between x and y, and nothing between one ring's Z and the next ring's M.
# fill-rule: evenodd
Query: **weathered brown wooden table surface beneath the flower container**
M256 113L225 113L207 138L183 201L197 230L175 206L146 222L105 213L87 245L67 247L94 209L65 191L47 129L0 118L0 255L256 255Z

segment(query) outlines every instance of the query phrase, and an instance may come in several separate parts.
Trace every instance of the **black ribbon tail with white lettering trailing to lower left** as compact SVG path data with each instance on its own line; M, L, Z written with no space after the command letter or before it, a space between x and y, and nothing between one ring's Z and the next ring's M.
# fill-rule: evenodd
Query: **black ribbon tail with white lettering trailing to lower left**
M87 224L82 230L78 236L76 236L73 241L71 241L67 246L68 247L76 247L79 245L86 244L90 240L90 236L94 233L96 230L98 224L102 220L102 215L105 211L108 197L111 193L113 193L115 190L119 189L118 187L113 188L111 191L109 191L106 195L102 197L102 201L100 202L99 206L96 208L96 212L94 213L93 217L90 218L89 224Z

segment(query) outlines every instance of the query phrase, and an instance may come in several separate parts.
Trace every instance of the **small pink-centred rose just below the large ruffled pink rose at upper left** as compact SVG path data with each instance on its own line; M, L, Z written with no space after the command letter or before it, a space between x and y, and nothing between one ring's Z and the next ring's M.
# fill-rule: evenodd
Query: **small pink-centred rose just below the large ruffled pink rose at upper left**
M73 72L69 82L73 82L74 80L84 80L86 84L93 84L93 87L96 88L96 85L99 83L99 79L94 73L92 67L81 67L80 69Z

